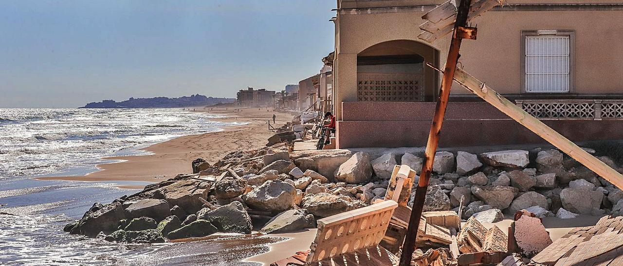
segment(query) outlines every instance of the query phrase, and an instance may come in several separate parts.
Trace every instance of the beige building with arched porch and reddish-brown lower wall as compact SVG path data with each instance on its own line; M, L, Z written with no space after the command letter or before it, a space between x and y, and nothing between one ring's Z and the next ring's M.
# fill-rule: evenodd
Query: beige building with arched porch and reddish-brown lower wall
M425 63L445 63L450 35L432 43L417 35L422 15L443 2L337 1L338 147L426 144L440 75ZM507 2L473 19L478 39L463 41L459 66L571 140L616 138L611 132L623 118L623 4ZM455 85L451 95L441 146L543 141L464 88Z

